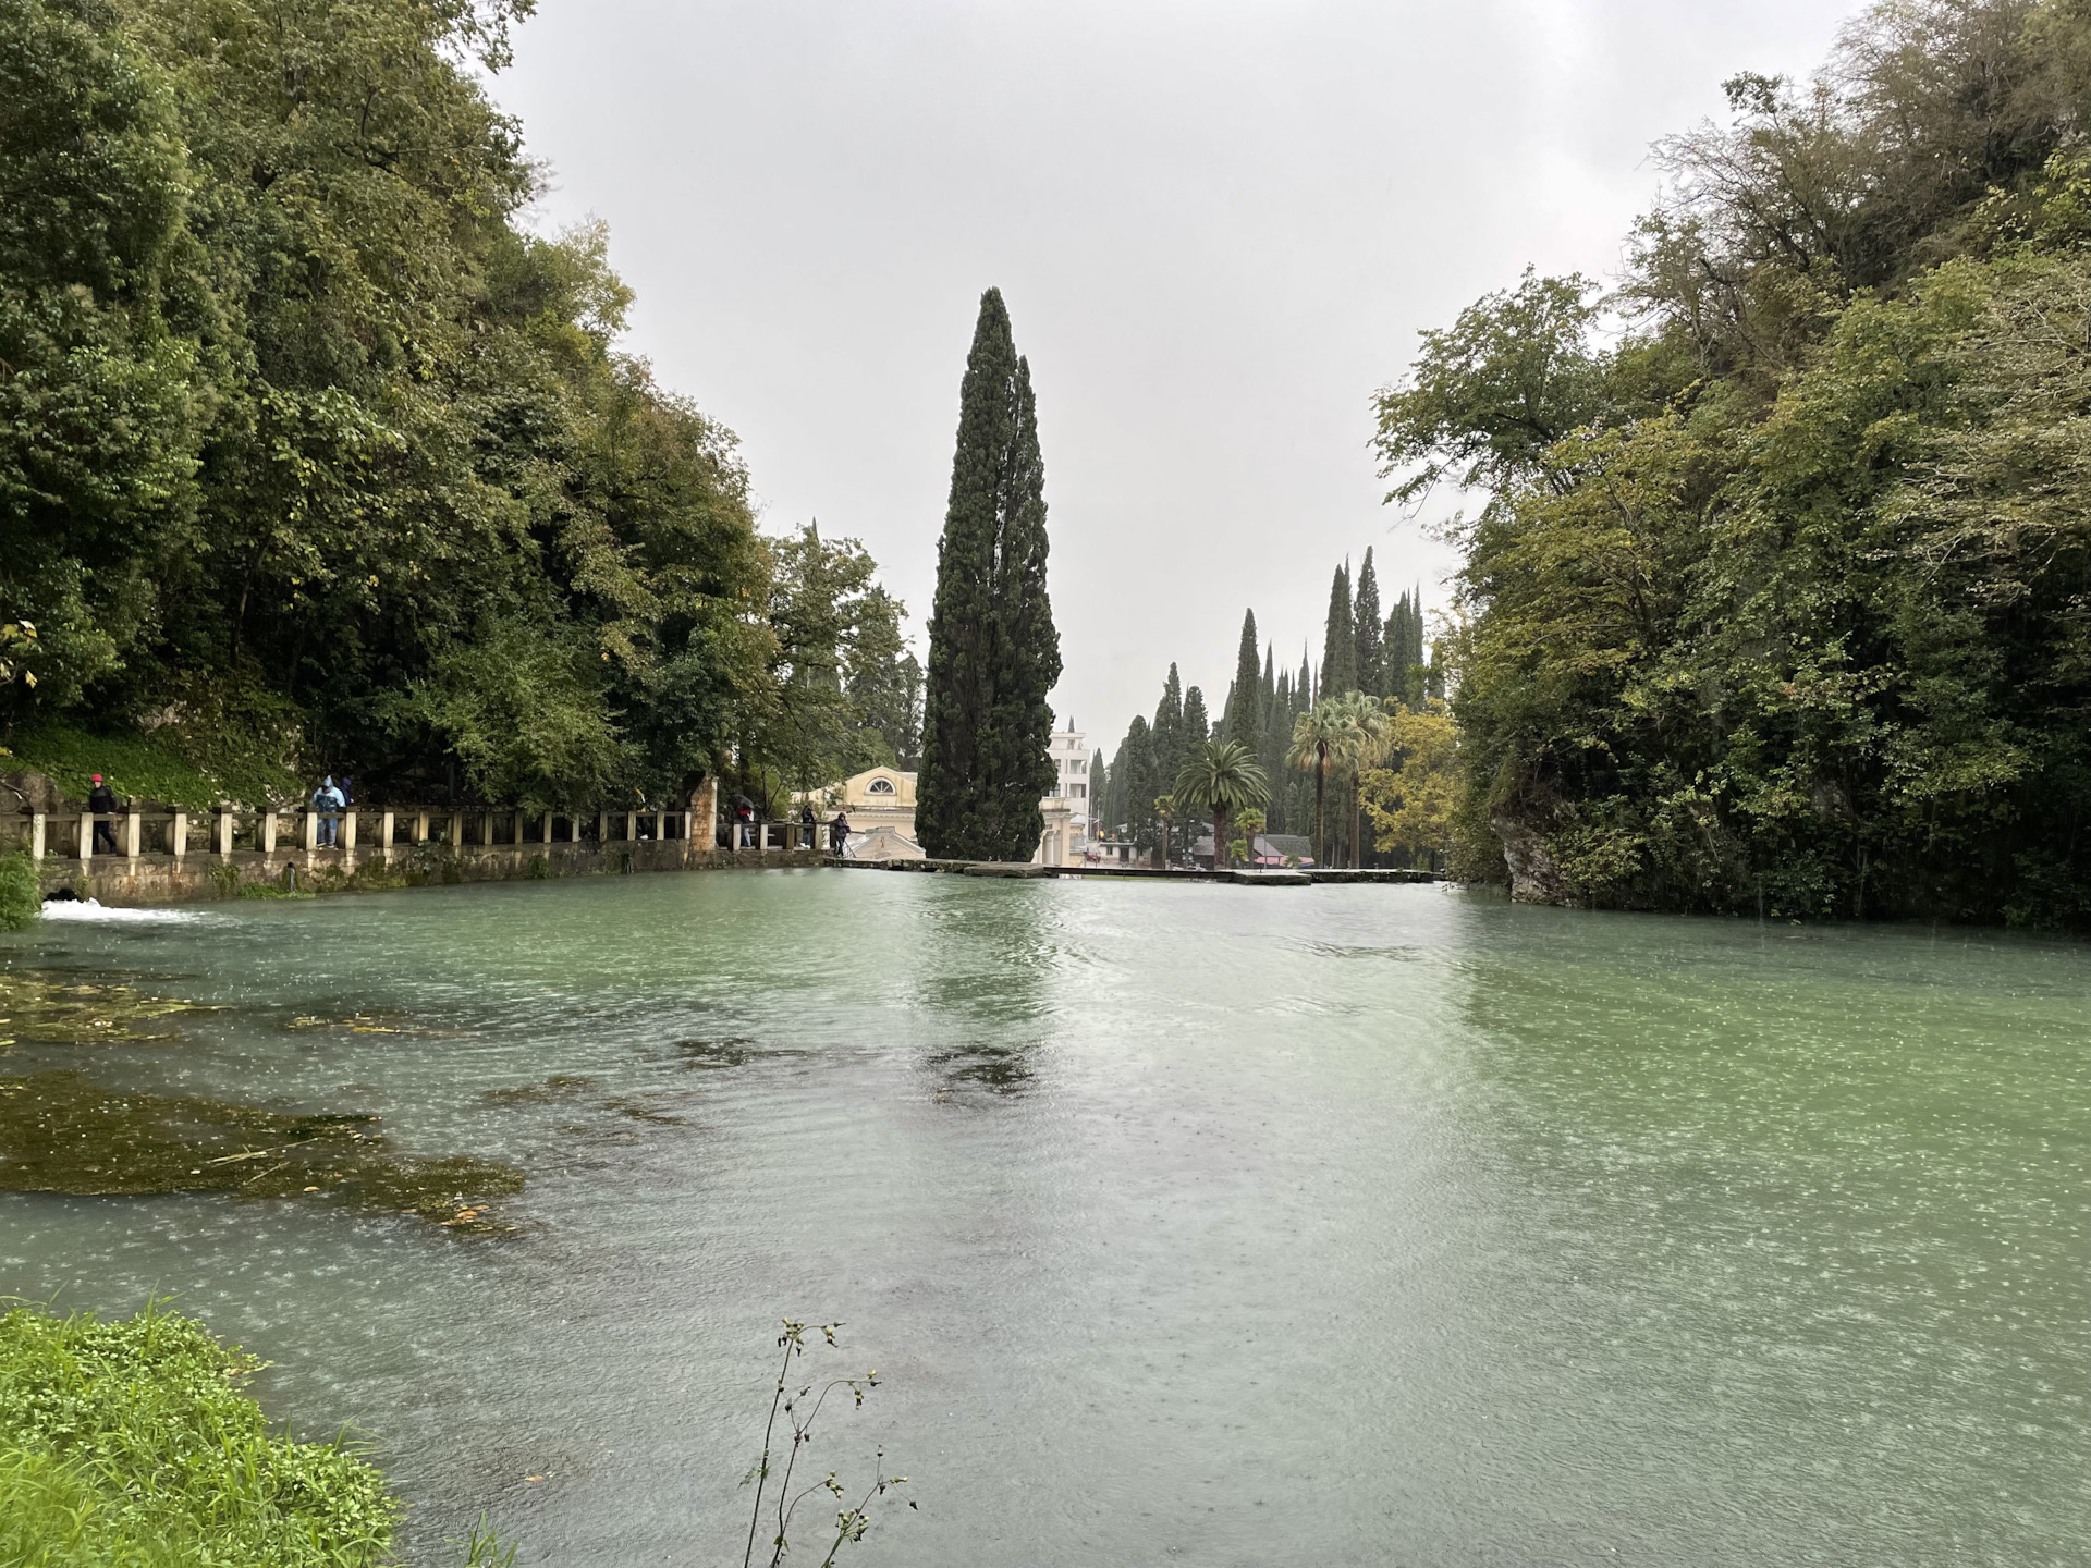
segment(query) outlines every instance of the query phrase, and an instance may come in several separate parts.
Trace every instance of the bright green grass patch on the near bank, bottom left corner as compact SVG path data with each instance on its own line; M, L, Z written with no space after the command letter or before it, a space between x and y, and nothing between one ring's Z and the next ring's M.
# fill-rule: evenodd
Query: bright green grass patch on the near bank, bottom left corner
M399 1501L341 1443L270 1432L259 1363L148 1305L0 1317L0 1564L376 1568Z

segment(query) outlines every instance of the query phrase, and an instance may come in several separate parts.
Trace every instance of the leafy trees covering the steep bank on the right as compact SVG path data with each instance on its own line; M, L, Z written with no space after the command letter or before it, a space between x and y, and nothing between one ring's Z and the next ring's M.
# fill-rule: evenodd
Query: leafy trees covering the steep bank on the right
M1382 395L1397 495L1491 487L1457 817L1529 897L2085 924L2091 8L1878 6L1729 96L1625 339L1526 278Z

